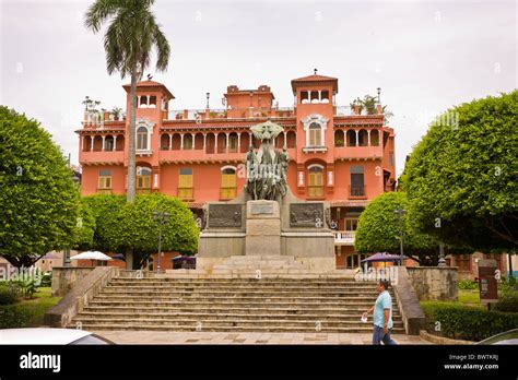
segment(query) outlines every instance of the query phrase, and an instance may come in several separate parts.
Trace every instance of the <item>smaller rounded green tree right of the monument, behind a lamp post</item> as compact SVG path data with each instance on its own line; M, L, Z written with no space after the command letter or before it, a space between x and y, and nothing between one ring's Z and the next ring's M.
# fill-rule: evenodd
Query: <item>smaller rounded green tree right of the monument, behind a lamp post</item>
M389 252L400 253L399 219L395 219L395 210L408 210L409 202L404 192L386 192L374 199L360 215L354 248L361 253ZM438 244L431 236L421 234L412 226L407 214L403 219L404 254L421 265L436 265Z

